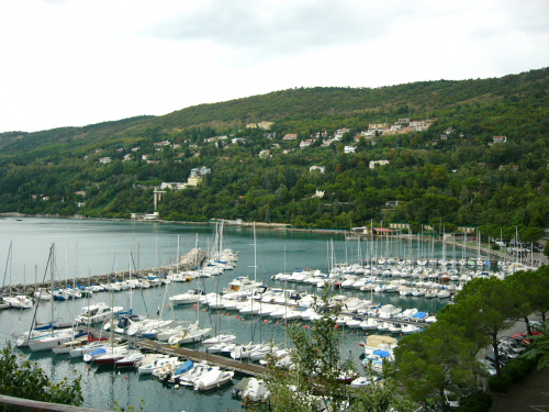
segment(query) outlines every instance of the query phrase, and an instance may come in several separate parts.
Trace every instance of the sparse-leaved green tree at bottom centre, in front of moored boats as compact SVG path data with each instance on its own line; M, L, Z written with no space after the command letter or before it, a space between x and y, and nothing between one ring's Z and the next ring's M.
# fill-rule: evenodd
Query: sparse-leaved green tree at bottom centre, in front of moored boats
M294 367L282 369L270 363L266 382L271 393L270 411L339 411L345 405L351 411L390 411L402 404L402 411L410 410L410 403L397 397L392 378L373 382L363 390L346 385L343 377L357 375L350 359L344 360L339 352L341 333L335 320L340 312L338 305L328 304L328 294L318 299L314 307L322 308L322 318L312 327L298 323L288 326L294 347L291 358ZM371 377L373 376L370 370Z

